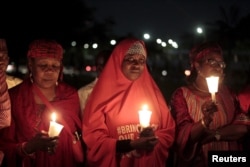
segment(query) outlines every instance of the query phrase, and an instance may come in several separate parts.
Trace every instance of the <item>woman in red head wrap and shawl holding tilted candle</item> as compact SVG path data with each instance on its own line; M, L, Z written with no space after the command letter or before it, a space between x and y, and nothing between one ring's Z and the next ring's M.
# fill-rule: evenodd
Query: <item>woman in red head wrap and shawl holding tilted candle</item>
M27 57L30 78L10 89L12 122L1 132L6 166L75 167L80 105L77 91L60 80L63 48L53 40L35 40ZM56 136L48 135L52 112L64 126Z

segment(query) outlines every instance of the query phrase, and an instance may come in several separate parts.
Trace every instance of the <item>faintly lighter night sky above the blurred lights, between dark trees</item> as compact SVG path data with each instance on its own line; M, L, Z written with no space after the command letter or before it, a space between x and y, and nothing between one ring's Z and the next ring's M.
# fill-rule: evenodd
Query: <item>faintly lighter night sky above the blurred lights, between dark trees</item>
M111 17L114 31L120 35L144 32L154 37L178 38L183 32L193 32L204 22L222 19L219 6L226 9L236 4L240 16L250 13L249 0L85 0L96 7L99 20Z

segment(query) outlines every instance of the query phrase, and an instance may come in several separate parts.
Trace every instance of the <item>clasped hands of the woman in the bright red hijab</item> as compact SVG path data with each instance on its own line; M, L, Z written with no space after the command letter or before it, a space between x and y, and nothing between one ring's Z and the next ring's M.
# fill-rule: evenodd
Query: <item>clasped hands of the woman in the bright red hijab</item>
M158 138L155 136L151 127L144 128L140 137L131 141L131 146L136 150L152 151L155 145L158 143Z

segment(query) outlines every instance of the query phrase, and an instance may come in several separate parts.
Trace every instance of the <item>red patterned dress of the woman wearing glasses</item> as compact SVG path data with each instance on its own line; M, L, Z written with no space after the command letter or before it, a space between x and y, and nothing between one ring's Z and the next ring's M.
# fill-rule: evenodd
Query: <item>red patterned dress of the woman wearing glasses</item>
M200 143L189 143L190 132L195 122L198 122L203 114L200 111L201 105L211 99L211 96L197 96L187 87L178 88L171 99L171 109L176 118L177 136L177 163L179 167L194 166L205 167L209 150L239 150L241 147L236 141L216 141L205 145ZM212 129L217 129L231 124L238 114L236 96L227 87L220 87L216 93L218 112L214 113L214 120L211 123Z

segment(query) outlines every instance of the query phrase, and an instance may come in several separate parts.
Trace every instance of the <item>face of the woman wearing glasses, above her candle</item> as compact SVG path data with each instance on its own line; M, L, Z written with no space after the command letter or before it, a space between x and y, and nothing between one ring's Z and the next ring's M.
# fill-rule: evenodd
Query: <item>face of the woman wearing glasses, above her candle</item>
M223 60L222 55L218 53L211 53L203 59L203 61L199 64L198 71L204 77L219 76L223 77L224 68L226 64Z

